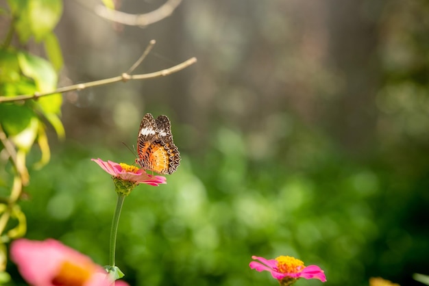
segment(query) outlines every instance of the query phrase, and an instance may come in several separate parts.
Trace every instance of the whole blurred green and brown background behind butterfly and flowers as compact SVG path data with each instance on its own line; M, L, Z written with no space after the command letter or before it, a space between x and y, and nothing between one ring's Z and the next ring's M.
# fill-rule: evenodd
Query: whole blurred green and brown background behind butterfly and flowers
M116 194L90 159L132 164L123 142L151 112L169 116L182 163L125 200L117 265L130 285L276 285L248 268L252 255L317 264L329 285L429 274L428 1L186 0L144 28L95 5L64 1L60 86L120 75L151 39L135 73L198 62L64 94L66 140L52 132L21 203L27 238L108 264Z

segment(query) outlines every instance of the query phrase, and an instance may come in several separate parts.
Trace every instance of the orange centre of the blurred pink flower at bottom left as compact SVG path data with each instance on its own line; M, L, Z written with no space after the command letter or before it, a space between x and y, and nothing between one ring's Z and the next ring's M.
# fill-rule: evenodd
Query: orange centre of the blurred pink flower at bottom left
M90 278L93 271L93 265L76 265L70 261L64 261L60 270L52 278L52 284L58 286L82 286Z

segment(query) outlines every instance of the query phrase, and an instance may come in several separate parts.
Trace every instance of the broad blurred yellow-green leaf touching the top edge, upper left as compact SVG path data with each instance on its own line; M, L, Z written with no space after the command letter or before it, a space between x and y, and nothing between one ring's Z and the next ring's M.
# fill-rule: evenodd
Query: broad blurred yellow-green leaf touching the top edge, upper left
M28 3L30 29L36 41L43 40L57 25L62 14L62 1L31 0Z

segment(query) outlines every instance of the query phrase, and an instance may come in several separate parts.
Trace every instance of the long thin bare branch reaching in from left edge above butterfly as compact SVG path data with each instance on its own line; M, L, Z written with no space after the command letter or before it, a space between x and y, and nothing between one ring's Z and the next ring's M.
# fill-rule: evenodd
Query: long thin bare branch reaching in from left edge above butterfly
M38 99L39 97L42 97L42 96L47 96L47 95L62 93L62 92L70 92L73 90L84 90L85 88L90 88L93 86L104 86L106 84L116 83L118 81L126 82L134 79L152 79L154 77L164 77L166 75L171 75L172 73L177 73L179 70L183 70L184 68L191 66L191 64L195 64L195 62L197 62L197 58L191 57L191 59L186 60L180 64L177 64L176 66L171 66L171 68L159 70L154 73L145 73L141 75L129 75L127 73L123 73L122 75L119 75L117 77L110 77L109 79L100 79L98 81L90 81L87 83L78 83L78 84L74 84L73 86L65 86L63 88L58 88L56 90L52 90L51 92L35 92L34 94L22 94L17 96L0 96L0 103Z

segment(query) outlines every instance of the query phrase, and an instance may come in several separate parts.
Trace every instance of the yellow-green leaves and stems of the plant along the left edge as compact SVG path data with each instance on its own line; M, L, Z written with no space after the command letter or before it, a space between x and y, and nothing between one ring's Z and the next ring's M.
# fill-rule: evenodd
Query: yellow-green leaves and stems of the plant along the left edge
M53 28L62 12L62 2L57 0L8 1L10 27L0 46L0 151L1 161L12 168L4 168L2 175L13 179L1 181L2 194L7 194L0 203L0 283L9 276L3 272L8 261L5 243L25 235L25 213L17 201L22 197L23 187L29 182L26 155L37 142L41 151L40 160L34 164L41 168L50 158L45 122L50 122L60 137L64 128L59 119L62 105L61 94L27 101L13 101L21 94L39 94L56 90L57 72L62 66L62 55ZM17 42L19 39L21 42ZM29 41L45 41L48 60L25 51Z

